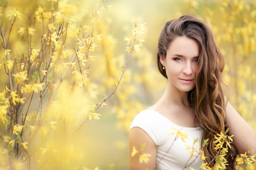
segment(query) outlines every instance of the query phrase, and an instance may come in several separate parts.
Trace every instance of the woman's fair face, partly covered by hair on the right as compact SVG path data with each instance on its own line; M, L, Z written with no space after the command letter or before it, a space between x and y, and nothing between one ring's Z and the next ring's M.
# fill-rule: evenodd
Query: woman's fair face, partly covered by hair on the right
M180 91L191 91L195 87L198 57L199 47L195 40L186 36L175 38L166 51L166 57L160 55L168 84Z

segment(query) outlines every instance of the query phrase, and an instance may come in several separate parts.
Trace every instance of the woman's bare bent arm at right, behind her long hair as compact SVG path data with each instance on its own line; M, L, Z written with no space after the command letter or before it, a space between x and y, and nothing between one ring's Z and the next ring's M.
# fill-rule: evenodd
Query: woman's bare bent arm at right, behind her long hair
M253 146L248 155L256 154L256 134L249 124L239 115L239 113L227 103L226 108L227 127L229 128L229 134L234 135L234 145L238 149L239 154L248 152L249 148Z

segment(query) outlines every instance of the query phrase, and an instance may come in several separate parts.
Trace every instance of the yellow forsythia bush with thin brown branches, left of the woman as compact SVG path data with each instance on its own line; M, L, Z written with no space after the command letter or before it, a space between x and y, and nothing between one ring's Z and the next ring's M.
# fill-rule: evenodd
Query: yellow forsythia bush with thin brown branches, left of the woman
M104 64L97 57L112 57L114 44L101 20L107 7L83 3L1 1L1 169L86 169L88 153L75 149L82 139L76 131L101 116L97 110L117 90L132 51L140 51L145 27L135 24L126 37L128 60L109 64L100 86L95 75Z

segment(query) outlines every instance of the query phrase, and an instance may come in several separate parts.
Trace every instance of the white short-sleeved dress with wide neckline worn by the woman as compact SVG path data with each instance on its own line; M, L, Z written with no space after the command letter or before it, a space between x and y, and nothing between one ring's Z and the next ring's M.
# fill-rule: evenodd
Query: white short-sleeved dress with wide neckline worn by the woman
M202 128L177 126L154 110L141 111L132 121L130 129L133 127L143 129L155 142L157 146L155 170L190 170L189 167L199 170L204 163L199 150ZM181 136L177 136L177 131L181 134L187 133L185 142L182 141ZM197 138L198 142L193 146ZM193 147L196 150L193 151ZM191 153L195 156L191 157Z

